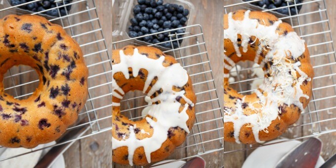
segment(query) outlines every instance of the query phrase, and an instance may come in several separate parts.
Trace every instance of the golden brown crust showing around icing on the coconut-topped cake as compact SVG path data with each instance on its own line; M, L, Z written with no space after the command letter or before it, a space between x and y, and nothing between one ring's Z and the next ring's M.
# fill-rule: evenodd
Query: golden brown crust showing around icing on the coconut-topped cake
M243 20L245 17L246 10L238 10L232 13L232 18L234 20ZM256 19L260 25L265 26L272 26L276 21L278 21L278 18L274 15L266 12L259 12L259 11L251 11L250 12L250 19ZM224 30L229 28L228 23L228 14L224 15ZM276 29L276 33L279 35L288 34L290 32L294 32L294 29L287 23L280 23L279 26ZM241 39L242 36L238 35L238 39ZM238 45L240 45L242 42L238 41ZM240 46L240 52L242 53L242 56L239 57L236 54L234 44L229 39L224 39L224 54L228 56L234 63L237 63L239 61L254 61L255 62L255 55L258 49L259 45L259 39L255 39L254 36L250 37L250 42L248 44L248 50L247 52L243 52L243 48ZM264 56L266 56L268 53L267 49L263 49L261 52L261 56L256 61L260 63ZM289 59L291 63L295 63L297 61L301 62L301 66L299 66L299 69L308 75L310 79L313 79L314 72L313 68L310 64L309 59L309 51L305 44L305 51L304 53L298 57L298 60L295 59ZM230 65L230 63L224 59L224 63L227 65ZM266 67L271 67L272 63L266 63ZM265 67L262 67L263 70L265 70ZM224 74L229 74L229 69L224 68ZM296 72L296 76L300 77L300 74ZM267 78L267 75L265 75L265 78ZM303 105L303 108L305 108L310 100L310 97L312 95L312 80L311 81L305 81L302 85L300 85L301 90L305 95L309 96L309 99L306 99L304 97L300 97L300 102ZM259 89L260 90L260 89ZM262 92L262 90L260 90ZM267 92L262 92L264 96L267 95ZM224 78L224 107L230 108L234 107L237 99L242 99L244 95L239 94L236 90L231 88L228 83L228 78ZM233 98L233 99L232 99ZM256 102L260 100L255 93L252 93L251 95L245 95L245 102ZM281 110L281 114L278 114L278 118L276 120L273 120L270 126L267 127L268 133L261 130L259 131L259 139L261 141L271 140L282 133L284 133L289 125L294 124L300 117L301 110L295 106L294 104L291 104L290 106L284 104L283 106L278 107ZM251 109L246 108L244 109L245 115L251 115L253 112ZM225 114L224 114L225 115ZM224 123L224 140L235 142L234 137L234 125L232 122L226 122ZM241 127L240 133L239 133L239 141L244 144L253 144L256 143L256 140L254 138L254 135L252 133L252 127L248 124L245 124Z

